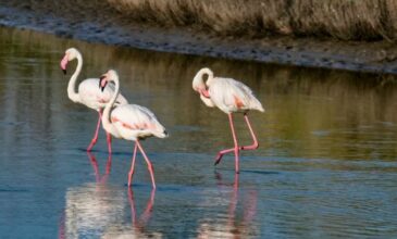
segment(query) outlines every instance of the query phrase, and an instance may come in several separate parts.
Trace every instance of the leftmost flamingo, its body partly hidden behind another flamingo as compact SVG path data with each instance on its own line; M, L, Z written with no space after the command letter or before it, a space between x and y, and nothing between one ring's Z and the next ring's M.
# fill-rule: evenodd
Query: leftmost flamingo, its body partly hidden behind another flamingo
M114 86L109 85L109 87L104 88L104 90L101 91L100 89L98 89L99 78L88 78L88 79L83 80L78 85L78 91L76 91L75 90L76 80L82 71L82 66L83 66L82 53L75 48L67 49L65 51L65 55L63 56L63 59L61 61L61 68L63 71L63 73L66 74L67 63L70 61L73 61L74 59L77 59L77 67L75 70L75 72L73 73L71 79L69 80L69 85L67 85L69 99L71 99L75 103L85 104L87 108L98 111L98 114L99 114L96 131L91 139L91 142L89 143L89 146L87 148L87 151L89 152L89 151L91 151L94 146L97 143L102 111L103 111L106 103L109 102L110 98L114 93ZM117 100L116 100L116 105L127 104L127 103L128 103L127 100L122 95L119 95ZM108 133L107 133L107 142L108 142L108 150L109 150L109 152L111 152L112 151L111 136Z

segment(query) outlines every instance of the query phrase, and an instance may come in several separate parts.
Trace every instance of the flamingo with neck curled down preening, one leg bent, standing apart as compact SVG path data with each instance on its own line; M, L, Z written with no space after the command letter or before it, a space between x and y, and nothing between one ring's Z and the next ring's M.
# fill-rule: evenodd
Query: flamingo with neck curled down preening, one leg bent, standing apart
M208 76L207 81L203 80L204 75ZM216 106L228 115L234 148L221 150L215 158L214 164L219 164L225 153L234 152L235 171L238 174L239 151L255 150L259 147L257 137L248 120L248 111L257 110L260 112L264 112L262 104L253 96L252 90L248 86L232 78L214 77L213 72L208 67L201 68L196 74L193 80L193 89L200 93L200 99L207 106ZM253 140L253 143L251 146L238 146L232 115L232 113L235 112L244 113L244 118L247 123L248 129Z

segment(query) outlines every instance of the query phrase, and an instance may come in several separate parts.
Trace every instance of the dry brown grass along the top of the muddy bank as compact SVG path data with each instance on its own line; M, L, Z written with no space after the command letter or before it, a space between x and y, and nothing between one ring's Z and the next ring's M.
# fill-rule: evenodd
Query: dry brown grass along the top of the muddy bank
M395 0L108 0L134 21L220 35L397 40Z

